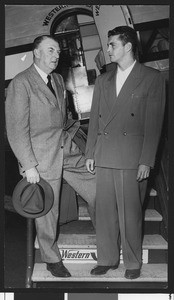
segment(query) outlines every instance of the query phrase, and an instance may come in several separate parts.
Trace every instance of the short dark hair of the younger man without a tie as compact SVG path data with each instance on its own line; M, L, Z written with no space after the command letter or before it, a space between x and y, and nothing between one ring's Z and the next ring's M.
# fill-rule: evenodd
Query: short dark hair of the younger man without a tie
M112 30L108 31L108 37L119 35L119 39L122 41L123 45L128 42L132 44L132 52L135 55L137 50L137 33L136 31L129 26L118 26Z

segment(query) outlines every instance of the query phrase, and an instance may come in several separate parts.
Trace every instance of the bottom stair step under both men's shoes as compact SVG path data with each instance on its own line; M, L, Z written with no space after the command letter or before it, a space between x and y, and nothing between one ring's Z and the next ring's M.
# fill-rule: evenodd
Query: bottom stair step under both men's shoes
M124 277L125 268L123 264L119 265L117 270L109 270L105 275L92 276L91 269L96 263L72 264L64 262L72 277L61 278L54 277L46 269L45 263L36 263L32 274L33 282L60 282L60 281L93 281L93 282L130 282ZM167 282L167 264L144 264L141 270L141 276L131 282Z

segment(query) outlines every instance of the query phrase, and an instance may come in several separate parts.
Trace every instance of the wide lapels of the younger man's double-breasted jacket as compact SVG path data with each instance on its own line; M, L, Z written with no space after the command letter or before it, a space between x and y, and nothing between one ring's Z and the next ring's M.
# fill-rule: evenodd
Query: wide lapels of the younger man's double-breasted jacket
M136 87L141 82L141 64L136 62L135 66L133 67L131 73L127 77L126 81L124 82L120 93L118 96L116 96L116 74L113 76L113 78L110 81L110 92L108 90L108 96L109 94L112 94L108 97L108 99L112 100L113 106L110 110L110 114L107 119L107 125L111 122L111 120L115 117L115 115L119 112L120 109L124 107L124 105L127 104L129 101L131 94L136 89ZM113 90L113 93L111 91Z

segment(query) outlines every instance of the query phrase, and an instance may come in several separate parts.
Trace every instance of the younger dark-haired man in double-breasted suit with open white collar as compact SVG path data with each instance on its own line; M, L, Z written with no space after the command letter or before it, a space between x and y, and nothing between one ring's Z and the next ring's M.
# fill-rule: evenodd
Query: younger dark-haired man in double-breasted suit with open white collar
M86 146L86 165L96 172L98 264L91 274L117 269L120 238L125 277L140 276L142 204L154 167L165 105L159 71L135 59L134 29L108 32L108 54L116 68L95 83Z

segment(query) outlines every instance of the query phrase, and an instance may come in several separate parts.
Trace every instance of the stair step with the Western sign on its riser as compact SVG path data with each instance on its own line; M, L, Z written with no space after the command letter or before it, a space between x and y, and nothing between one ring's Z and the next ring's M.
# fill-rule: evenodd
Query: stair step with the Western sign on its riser
M93 263L97 262L97 249L95 234L60 234L58 246L62 260L69 263ZM35 248L38 248L37 240ZM147 263L166 263L167 242L162 236L145 235L143 239L142 260ZM123 263L122 251L120 251L120 263ZM36 262L41 262L40 251L35 257Z

